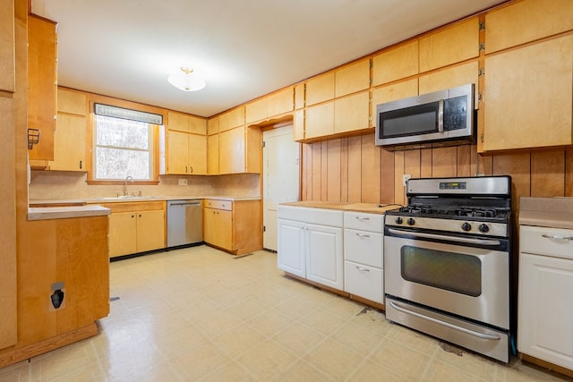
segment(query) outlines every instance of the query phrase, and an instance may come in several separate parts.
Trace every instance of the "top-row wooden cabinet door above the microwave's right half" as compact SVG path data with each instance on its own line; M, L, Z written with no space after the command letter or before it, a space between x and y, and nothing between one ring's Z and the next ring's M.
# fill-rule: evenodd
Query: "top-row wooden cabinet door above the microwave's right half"
M473 17L420 38L420 72L479 55L479 20Z

